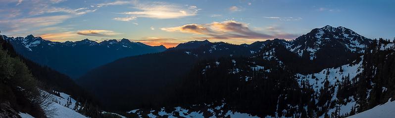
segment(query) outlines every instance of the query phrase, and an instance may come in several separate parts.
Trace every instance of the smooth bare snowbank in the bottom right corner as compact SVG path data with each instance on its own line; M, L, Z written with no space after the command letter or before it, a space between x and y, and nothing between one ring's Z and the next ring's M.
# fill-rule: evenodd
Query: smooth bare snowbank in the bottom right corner
M394 118L395 116L395 101L391 99L383 105L376 106L370 110L361 112L359 114L350 116L348 118Z

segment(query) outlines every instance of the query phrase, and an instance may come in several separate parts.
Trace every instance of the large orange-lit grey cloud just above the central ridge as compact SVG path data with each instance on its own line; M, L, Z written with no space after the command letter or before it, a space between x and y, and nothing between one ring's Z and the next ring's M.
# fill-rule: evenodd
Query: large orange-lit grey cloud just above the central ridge
M169 32L184 32L204 34L209 37L195 37L198 39L270 39L274 36L252 31L245 23L236 21L213 22L211 24L188 24L180 27L162 28Z

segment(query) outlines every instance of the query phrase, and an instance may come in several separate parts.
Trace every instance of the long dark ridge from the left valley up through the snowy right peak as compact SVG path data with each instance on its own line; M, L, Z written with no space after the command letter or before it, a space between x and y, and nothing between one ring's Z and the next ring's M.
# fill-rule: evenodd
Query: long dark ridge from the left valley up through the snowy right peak
M162 53L118 59L91 70L77 82L100 96L101 101L111 101L104 104L109 108L159 107L180 100L174 96L178 96L180 88L188 88L182 85L188 85L184 83L188 78L196 77L191 73L202 71L194 70L202 61L221 58L269 60L266 64L274 61L271 65L277 63L293 72L307 74L358 59L372 41L350 29L331 26L313 29L291 41L274 39L241 45L190 41ZM229 73L241 71L236 68L227 70L232 70ZM135 95L125 95L127 93ZM130 102L122 102L125 100Z

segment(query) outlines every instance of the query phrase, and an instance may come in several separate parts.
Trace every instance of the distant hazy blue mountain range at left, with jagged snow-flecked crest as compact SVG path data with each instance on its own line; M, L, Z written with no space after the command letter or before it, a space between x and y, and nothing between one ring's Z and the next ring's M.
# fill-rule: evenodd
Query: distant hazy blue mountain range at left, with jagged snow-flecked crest
M84 39L60 43L33 35L2 37L12 44L18 54L72 78L78 78L88 70L115 59L166 50L164 46L148 46L140 42L130 42L128 39L100 43Z

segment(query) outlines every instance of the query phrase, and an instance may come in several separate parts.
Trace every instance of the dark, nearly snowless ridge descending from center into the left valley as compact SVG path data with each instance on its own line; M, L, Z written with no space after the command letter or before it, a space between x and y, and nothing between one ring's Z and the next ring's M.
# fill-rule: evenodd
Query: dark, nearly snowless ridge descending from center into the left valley
M77 82L100 96L102 102L111 101L105 102L109 108L129 110L131 106L156 106L166 103L164 100L172 97L174 93L168 91L174 91L179 86L180 80L187 76L198 60L239 57L253 52L250 47L223 42L208 42L195 49L177 48L118 59L93 69ZM125 93L133 95L124 95ZM155 99L157 97L162 99ZM127 99L133 102L122 102Z

